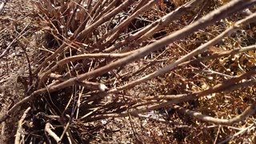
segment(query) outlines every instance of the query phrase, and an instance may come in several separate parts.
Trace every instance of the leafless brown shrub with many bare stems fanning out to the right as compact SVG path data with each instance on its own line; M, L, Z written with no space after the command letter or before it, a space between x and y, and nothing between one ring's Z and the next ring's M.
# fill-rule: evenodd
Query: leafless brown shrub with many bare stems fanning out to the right
M234 0L206 15L202 13L208 12L208 1L192 0L185 4L181 4L182 1L175 1L173 10L169 7L169 13L162 10L166 4L161 2L34 2L34 6L39 10L41 25L50 38L47 47L49 53L37 70L30 75L27 97L11 107L0 121L5 121L18 110L18 107L30 102L34 107L31 111L35 116L30 116L28 121L33 122L34 127L28 129L45 129L49 135L39 132L38 134L44 136L31 136L26 141L39 142L43 139L49 142L85 142L90 139L90 134L102 126L100 122L106 121L107 118L142 118L140 114L166 107L198 118L202 122L223 126L242 122L254 114L255 102L248 103L250 106L242 114L229 120L188 110L187 108L193 107L182 104L193 100L199 101L200 98L212 94L222 94L256 85L256 70L244 70L227 78L227 74L211 70L210 65L202 63L226 55L255 50L255 45L237 46L238 49L218 52L218 49L214 48L230 34L254 22L255 13L244 15L241 20L215 35L208 34L210 38L195 38L191 49L187 46L186 50L182 50L182 45L194 37L191 34L196 35L203 30L209 30L210 26L229 18L232 14L242 14L242 10L254 6L256 1ZM159 14L152 16L150 12L154 10ZM159 15L162 16L158 18ZM199 57L198 54L206 56ZM186 80L186 76L190 77L188 74L191 74L184 72L186 69L208 70L214 74L222 74L226 79L220 78L220 81L212 83L212 86L203 87L206 81L200 83L201 86L196 86L189 82L189 79ZM168 76L163 78L162 75L165 74ZM155 78L160 79L160 84ZM156 92L158 88L155 86L161 88L162 83L168 79L169 82L173 82L169 88L176 89L175 94L173 91L164 92L165 90ZM183 87L178 88L180 81L183 82ZM130 119L131 126L132 123ZM50 130L50 126L55 130ZM143 138L136 135L136 129L132 130L134 138L142 142ZM152 134L157 135L155 131ZM152 142L159 142L159 138L153 139Z

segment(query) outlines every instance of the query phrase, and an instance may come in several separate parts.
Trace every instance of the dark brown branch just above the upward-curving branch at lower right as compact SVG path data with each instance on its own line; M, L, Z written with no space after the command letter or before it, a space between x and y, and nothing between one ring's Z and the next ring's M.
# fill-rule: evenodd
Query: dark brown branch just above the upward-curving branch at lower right
M246 78L251 78L254 74L256 74L256 70L252 70L250 72L247 72L246 74L242 74L240 76L230 78L216 86L210 87L208 90L202 90L198 92L194 92L191 94L178 94L178 95L162 95L162 96L151 96L148 98L145 98L146 100L153 100L153 101L158 101L160 99L161 101L159 102L146 102L142 104L141 107L136 107L134 110L130 110L129 114L138 116L138 114L146 113L149 112L150 110L157 110L162 107L168 107L172 106L174 104L180 103L180 102L186 102L189 100L193 100L195 98L200 98L209 94L214 94L214 93L221 93L226 90L232 90L232 86L235 86L236 89L241 88L241 87L248 87L248 86L256 86L256 81L249 81L249 82L240 82L242 79ZM167 101L166 101L167 100ZM149 106L146 106L146 104L150 104ZM254 105L253 105L254 106ZM254 107L253 107L254 108ZM252 113L252 110L249 110L246 112L246 114ZM122 113L122 114L98 114L95 116L92 116L91 118L87 118L88 121L92 120L98 120L102 118L118 118L118 117L126 117L129 115L127 112ZM242 115L244 116L244 115ZM233 122L234 120L232 120ZM237 121L234 121L237 122Z

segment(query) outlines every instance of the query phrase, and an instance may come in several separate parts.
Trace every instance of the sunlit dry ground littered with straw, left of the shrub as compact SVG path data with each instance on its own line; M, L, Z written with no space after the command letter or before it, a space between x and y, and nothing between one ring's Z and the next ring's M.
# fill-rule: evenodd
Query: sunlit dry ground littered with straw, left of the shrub
M28 74L28 63L33 68L39 58L32 45L37 30L32 15L33 6L26 0L7 1L0 12L0 114L22 99L26 90L22 80ZM14 139L17 123L13 126L6 123L0 126L0 143Z

